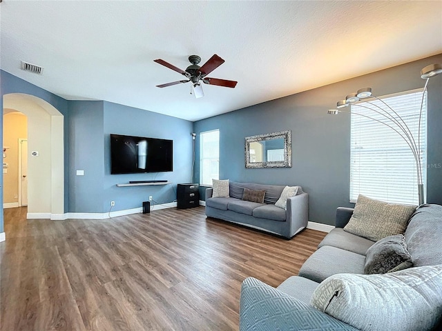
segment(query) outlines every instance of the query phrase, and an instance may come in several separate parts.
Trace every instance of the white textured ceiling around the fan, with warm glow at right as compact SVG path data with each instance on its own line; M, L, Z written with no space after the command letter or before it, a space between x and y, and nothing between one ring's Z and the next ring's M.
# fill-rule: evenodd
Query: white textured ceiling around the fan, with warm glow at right
M106 100L196 121L442 53L442 1L12 1L1 69L69 100ZM188 57L225 60L190 84ZM44 67L20 70L20 61ZM430 63L429 63L430 64Z

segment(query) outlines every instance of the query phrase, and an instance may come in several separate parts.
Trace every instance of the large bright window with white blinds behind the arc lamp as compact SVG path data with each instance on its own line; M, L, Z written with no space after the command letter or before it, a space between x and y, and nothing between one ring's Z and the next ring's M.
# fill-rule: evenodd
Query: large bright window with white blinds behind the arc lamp
M427 154L427 96L423 90L414 90L382 98L410 129L418 144L419 111L421 115L420 154L423 183L426 183ZM381 114L363 108L386 109L378 100L362 101L352 105L350 148L350 201L356 202L358 194L392 203L419 204L417 169L412 150L398 133L378 121L396 128ZM388 110L394 115L392 110ZM358 114L355 114L358 113ZM363 117L365 115L371 117ZM377 120L377 121L376 121ZM401 132L400 130L398 130Z

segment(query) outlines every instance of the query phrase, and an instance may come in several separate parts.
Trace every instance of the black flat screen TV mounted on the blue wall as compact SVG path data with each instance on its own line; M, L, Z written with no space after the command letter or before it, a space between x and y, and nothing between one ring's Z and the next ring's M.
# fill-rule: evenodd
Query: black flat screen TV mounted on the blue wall
M111 134L111 174L173 171L173 141Z

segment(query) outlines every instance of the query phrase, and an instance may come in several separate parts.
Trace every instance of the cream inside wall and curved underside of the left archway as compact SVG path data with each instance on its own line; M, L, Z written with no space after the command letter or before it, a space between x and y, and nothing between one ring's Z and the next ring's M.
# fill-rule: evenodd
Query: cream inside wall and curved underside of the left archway
M64 219L64 117L30 94L3 95L28 117L28 219Z

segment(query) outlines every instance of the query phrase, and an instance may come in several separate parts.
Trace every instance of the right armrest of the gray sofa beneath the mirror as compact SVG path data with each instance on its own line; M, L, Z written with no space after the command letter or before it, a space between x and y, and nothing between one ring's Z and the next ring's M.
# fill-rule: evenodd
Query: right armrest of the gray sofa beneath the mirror
M287 222L290 223L287 238L307 228L309 223L309 194L302 192L294 197L287 198Z

